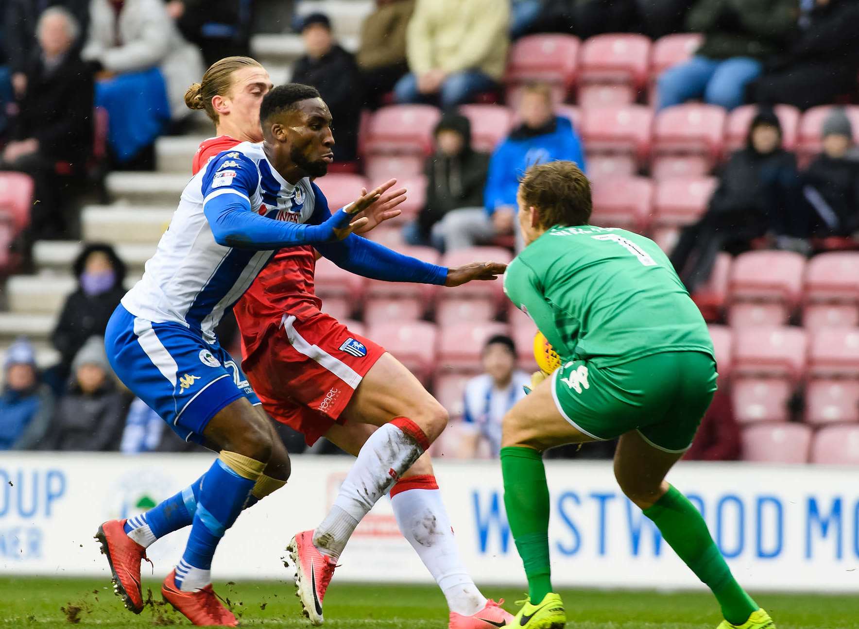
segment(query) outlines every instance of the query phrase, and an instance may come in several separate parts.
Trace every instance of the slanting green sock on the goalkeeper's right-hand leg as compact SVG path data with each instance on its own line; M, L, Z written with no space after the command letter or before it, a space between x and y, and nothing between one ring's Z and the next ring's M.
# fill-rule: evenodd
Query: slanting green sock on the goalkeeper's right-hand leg
M679 558L713 591L725 620L742 625L758 610L758 604L734 580L704 518L682 493L669 487L656 504L644 510L644 515L653 520Z

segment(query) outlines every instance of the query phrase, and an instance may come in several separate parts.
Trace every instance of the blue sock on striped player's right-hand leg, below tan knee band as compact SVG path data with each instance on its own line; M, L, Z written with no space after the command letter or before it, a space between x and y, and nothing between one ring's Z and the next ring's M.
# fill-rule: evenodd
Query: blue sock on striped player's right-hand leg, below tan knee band
M185 553L176 566L175 580L180 588L193 569L210 570L215 548L241 513L253 484L253 480L242 477L221 459L212 463L200 488Z

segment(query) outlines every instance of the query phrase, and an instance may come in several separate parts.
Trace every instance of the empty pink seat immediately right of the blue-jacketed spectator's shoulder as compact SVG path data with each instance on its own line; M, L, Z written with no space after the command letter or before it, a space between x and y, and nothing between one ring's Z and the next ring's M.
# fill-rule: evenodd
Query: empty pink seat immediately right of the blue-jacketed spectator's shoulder
M604 168L595 162L612 158L618 175L636 174L647 162L653 114L643 105L591 107L584 110L582 141L588 150L588 174L592 178Z

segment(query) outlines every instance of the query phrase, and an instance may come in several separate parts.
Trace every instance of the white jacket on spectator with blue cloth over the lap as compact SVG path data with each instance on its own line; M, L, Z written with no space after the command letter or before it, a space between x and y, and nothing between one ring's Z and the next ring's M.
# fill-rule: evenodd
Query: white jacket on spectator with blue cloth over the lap
M185 92L203 76L203 57L182 38L161 0L125 0L119 24L108 0L92 0L89 20L84 60L97 60L118 74L157 66L167 82L171 118L190 113Z

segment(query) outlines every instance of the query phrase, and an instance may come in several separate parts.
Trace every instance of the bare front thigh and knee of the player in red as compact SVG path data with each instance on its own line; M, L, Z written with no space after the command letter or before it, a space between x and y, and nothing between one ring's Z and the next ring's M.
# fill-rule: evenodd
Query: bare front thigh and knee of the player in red
M355 389L343 416L347 423L381 426L405 417L433 441L444 430L448 412L403 363L383 354Z

